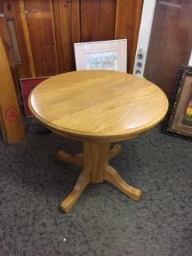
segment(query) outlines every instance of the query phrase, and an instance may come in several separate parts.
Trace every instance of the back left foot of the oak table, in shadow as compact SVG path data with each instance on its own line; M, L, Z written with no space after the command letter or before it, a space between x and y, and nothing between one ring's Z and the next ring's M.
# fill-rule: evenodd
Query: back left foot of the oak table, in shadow
M82 153L72 155L72 154L67 154L63 150L59 150L58 154L57 154L57 158L59 160L65 161L65 162L74 163L77 166L83 166L83 154Z

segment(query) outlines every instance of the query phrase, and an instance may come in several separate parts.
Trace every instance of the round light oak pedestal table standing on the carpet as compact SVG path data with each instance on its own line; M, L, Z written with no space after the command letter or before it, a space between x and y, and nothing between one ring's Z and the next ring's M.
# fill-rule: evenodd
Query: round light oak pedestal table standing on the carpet
M68 212L89 183L108 181L139 201L142 192L128 185L109 160L121 151L110 142L137 137L162 121L166 95L145 78L108 70L82 70L47 79L30 94L30 110L48 129L83 142L83 153L58 151L58 158L82 166L71 193L60 205Z

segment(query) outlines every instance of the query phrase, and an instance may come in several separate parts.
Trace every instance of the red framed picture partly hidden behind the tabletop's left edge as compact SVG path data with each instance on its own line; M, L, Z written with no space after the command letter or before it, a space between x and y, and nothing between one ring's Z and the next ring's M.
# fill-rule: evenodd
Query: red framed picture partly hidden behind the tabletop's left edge
M35 86L38 86L38 84L40 82L46 80L47 78L49 78L49 77L20 79L20 86L21 86L21 90L22 90L22 99L23 99L23 105L24 105L26 118L33 117L33 114L30 112L30 108L28 106L28 98L29 98L31 90L33 90Z

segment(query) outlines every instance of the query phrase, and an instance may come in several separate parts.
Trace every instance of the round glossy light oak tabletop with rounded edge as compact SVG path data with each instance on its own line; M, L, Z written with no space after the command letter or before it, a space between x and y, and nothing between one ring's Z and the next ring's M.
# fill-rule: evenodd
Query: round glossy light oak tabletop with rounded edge
M72 138L118 141L149 130L166 115L168 101L145 78L107 70L59 74L34 88L36 118Z

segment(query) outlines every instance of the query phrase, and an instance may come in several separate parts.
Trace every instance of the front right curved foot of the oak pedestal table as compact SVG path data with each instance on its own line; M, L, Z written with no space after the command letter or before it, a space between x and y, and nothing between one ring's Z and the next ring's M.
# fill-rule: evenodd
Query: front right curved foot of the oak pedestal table
M114 184L118 190L122 191L122 193L126 194L135 201L139 201L141 199L142 191L128 185L125 181L123 181L117 170L115 170L112 166L106 166L104 179L107 182Z

